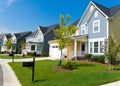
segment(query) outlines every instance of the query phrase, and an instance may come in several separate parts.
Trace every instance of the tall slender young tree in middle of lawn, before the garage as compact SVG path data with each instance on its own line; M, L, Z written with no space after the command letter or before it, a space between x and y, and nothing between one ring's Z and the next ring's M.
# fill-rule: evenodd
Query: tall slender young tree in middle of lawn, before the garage
M76 27L73 25L68 25L67 23L70 20L70 16L66 15L66 18L64 18L63 15L60 15L60 24L59 24L59 29L56 29L54 33L56 34L58 38L58 44L59 44L59 49L61 51L61 56L60 56L60 61L59 61L59 66L61 65L61 59L62 59L62 50L66 47L69 46L70 41L71 41L71 36L75 33ZM67 50L68 51L68 50Z

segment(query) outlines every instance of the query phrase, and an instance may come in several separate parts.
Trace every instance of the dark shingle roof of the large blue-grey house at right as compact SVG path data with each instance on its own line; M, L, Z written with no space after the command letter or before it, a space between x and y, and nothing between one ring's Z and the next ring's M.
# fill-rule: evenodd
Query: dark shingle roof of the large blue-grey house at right
M100 5L94 1L92 1L102 12L104 12L108 17L113 17L116 13L120 11L120 5L114 6L111 8L107 8L103 5Z

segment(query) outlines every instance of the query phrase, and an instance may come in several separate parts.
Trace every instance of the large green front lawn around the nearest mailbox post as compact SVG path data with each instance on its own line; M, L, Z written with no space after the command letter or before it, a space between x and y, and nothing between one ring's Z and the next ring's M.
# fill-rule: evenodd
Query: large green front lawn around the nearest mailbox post
M72 71L55 71L57 61L38 61L35 64L35 82L31 81L31 68L22 63L10 63L22 86L98 86L120 79L120 71L108 72L107 65L80 62ZM116 67L120 69L120 67Z

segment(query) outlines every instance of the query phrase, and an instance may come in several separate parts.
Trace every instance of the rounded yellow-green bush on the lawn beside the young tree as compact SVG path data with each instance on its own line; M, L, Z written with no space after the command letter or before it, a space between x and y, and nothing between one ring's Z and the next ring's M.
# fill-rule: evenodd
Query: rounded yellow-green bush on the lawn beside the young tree
M72 70L72 69L75 69L77 67L77 65L76 65L76 62L73 62L71 60L65 60L62 63L61 67L64 69Z

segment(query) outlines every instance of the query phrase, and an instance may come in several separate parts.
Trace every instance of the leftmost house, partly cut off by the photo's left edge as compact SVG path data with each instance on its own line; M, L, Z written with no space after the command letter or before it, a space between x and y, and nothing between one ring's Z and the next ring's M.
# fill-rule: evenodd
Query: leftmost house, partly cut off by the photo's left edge
M1 53L7 51L5 44L10 37L11 37L10 33L0 34L0 52Z

